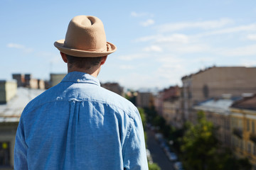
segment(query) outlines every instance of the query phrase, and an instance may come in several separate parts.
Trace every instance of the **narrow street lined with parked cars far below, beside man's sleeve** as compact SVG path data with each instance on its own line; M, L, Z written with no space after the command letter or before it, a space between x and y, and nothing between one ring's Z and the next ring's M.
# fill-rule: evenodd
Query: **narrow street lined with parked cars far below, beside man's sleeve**
M166 154L164 153L164 150L154 138L154 132L147 130L147 137L146 144L151 153L153 162L158 164L161 170L174 170L174 164L169 161L168 157L166 157Z

